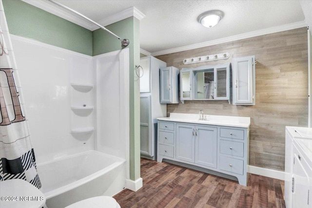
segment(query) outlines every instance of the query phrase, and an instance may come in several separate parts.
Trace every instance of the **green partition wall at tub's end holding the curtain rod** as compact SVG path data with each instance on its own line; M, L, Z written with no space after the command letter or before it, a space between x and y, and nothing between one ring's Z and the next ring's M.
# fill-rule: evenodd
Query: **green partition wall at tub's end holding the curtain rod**
M139 20L130 17L105 27L120 38L130 40L127 46L130 52L130 179L137 180L140 177L140 90L135 65L140 62ZM122 48L121 41L108 32L102 29L93 31L93 56Z

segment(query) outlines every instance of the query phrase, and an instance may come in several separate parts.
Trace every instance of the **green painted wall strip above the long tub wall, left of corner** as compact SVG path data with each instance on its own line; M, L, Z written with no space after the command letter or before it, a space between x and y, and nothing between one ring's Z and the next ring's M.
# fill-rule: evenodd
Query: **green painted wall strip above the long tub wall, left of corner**
M92 31L21 0L2 0L10 34L92 56Z

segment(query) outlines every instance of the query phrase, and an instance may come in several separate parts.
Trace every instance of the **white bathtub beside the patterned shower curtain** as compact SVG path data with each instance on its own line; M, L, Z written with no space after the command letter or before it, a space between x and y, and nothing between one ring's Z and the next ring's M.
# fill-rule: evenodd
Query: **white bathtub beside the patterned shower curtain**
M86 151L37 165L48 208L64 208L94 196L113 196L124 189L126 160Z

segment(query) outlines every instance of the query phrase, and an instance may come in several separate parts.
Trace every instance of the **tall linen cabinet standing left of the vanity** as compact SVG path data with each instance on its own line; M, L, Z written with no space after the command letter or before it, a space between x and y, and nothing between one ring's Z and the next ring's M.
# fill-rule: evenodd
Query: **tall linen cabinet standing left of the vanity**
M167 104L160 103L159 69L167 63L155 57L140 58L141 157L156 160L157 119L167 116Z

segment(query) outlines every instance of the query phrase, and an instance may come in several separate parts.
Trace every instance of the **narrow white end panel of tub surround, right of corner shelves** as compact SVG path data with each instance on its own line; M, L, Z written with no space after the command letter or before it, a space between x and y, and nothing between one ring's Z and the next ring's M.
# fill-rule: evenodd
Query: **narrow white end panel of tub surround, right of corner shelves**
M95 56L94 66L96 149L124 158L129 165L129 49Z

